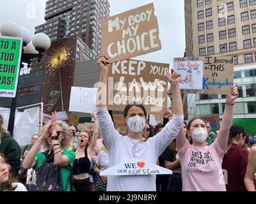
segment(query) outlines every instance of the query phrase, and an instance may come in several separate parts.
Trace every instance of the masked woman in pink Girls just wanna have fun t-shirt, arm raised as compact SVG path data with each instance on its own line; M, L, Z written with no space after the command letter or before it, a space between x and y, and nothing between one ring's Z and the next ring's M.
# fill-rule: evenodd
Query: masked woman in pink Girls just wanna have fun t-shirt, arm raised
M227 151L234 101L238 95L237 87L233 85L232 94L226 99L218 137L210 146L205 144L208 133L204 120L194 118L188 123L188 135L193 145L186 139L184 129L180 129L176 147L182 168L182 191L226 191L224 178L227 175L222 171L221 163Z

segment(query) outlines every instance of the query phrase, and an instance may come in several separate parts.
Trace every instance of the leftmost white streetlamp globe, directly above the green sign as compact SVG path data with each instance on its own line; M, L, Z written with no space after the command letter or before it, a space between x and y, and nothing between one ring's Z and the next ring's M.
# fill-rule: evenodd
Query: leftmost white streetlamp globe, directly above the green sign
M22 37L20 26L15 22L2 24L0 30L3 36Z

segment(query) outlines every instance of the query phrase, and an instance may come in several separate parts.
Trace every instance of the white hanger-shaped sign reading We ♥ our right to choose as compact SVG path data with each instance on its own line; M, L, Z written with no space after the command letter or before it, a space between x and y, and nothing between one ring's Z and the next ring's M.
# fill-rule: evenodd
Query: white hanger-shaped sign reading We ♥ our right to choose
M172 174L171 170L148 163L143 159L129 159L124 163L112 166L104 171L100 171L101 176L124 176L124 175L154 175L154 174Z

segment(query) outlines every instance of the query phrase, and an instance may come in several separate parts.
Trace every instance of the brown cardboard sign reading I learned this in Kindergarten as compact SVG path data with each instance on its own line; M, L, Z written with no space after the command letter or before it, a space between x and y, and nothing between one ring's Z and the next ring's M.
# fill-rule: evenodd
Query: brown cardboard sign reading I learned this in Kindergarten
M232 94L234 64L232 57L205 57L201 94Z

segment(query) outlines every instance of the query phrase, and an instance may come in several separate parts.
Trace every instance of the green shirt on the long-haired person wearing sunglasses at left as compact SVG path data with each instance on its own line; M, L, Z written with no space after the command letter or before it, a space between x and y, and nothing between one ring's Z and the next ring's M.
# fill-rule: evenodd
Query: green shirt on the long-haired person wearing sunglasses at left
M68 180L70 177L73 163L76 159L76 153L73 150L64 150L62 152L62 155L67 156L69 159L68 166L60 166L63 189L64 189L64 191L70 191L70 186L69 186ZM40 164L42 164L45 161L46 157L44 156L44 154L42 152L37 152L36 157L37 157L37 161L36 161L36 171L37 171ZM66 187L67 187L67 189L66 189Z

